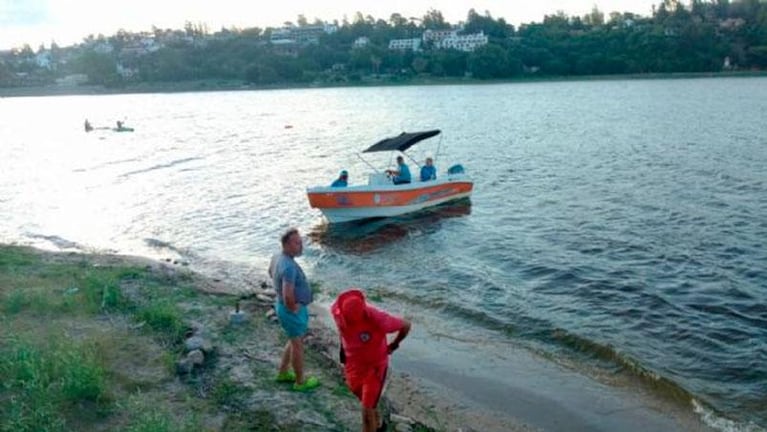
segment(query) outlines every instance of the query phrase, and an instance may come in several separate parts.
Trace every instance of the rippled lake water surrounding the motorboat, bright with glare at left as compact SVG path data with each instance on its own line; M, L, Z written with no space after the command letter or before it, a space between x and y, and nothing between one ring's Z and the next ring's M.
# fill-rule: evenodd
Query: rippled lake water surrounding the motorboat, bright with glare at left
M0 98L0 118L0 242L246 288L297 226L326 299L363 287L765 430L767 78ZM341 227L309 208L341 169L365 181L369 145L433 128L410 154L462 163L469 203Z

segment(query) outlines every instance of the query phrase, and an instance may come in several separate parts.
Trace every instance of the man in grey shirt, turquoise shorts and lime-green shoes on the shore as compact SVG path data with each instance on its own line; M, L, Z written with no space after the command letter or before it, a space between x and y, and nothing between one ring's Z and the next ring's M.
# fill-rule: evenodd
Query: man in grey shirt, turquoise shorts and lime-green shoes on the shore
M269 276L277 291L274 309L289 340L282 353L277 381L292 382L295 391L309 391L318 387L320 381L316 377L304 376L303 337L309 329L307 306L312 302L312 290L301 266L295 261L301 256L304 245L296 228L287 230L280 241L282 253L272 260Z

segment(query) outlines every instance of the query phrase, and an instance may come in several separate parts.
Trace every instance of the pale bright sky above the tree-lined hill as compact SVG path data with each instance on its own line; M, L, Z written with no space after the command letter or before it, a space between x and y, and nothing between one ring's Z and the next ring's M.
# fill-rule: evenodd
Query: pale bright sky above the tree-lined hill
M465 21L469 9L489 11L494 18L518 26L541 22L544 15L562 11L583 16L594 6L610 12L652 13L661 0L0 0L0 50L40 44L59 46L81 42L99 33L110 36L119 29L131 32L159 28L180 29L185 22L204 23L211 32L226 28L279 27L296 22L299 14L309 22L354 19L357 12L388 20L393 13L422 17L430 9L446 21Z

